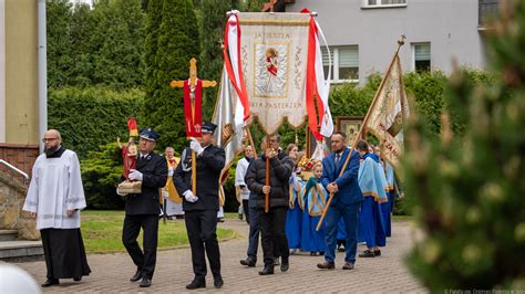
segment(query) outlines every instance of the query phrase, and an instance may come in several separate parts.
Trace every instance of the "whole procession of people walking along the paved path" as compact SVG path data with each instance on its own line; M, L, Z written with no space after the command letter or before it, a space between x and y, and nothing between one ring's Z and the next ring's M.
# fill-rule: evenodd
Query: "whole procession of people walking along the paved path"
M194 271L186 288L206 287L206 256L214 286L224 285L216 230L225 150L213 144L215 128L204 124L202 138L192 139L179 162L171 147L165 157L154 153L159 135L151 128L141 130L138 148L128 140L135 150L122 151L125 165L117 189L126 199L122 242L136 266L130 281L141 280L141 287L152 285L158 214L163 202L166 211L165 200L178 204L175 210L184 213ZM352 270L359 242L367 245L360 258L381 255L380 248L391 234L393 169L381 159L379 146L359 140L351 148L346 140L344 133L333 133L332 153L322 160L305 160L294 144L282 149L277 134L264 137L259 156L254 146L245 147L235 179L249 224L247 256L240 264L256 266L259 235L260 275L274 274L279 265L281 272L288 271L290 255L301 252L323 255L317 267L333 270L337 250L344 251L342 269ZM45 133L43 143L44 153L34 164L23 210L37 219L41 231L48 266L42 286L48 287L60 279L81 281L91 269L80 230L80 210L86 202L79 159L61 146L55 129ZM130 155L133 158L127 160ZM141 230L142 248L137 242Z

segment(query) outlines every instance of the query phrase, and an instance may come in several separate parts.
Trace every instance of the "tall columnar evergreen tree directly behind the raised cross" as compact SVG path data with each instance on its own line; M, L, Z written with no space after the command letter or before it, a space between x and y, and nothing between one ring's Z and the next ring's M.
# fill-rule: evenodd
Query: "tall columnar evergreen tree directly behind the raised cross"
M172 88L171 81L188 78L189 60L199 56L199 34L195 10L191 0L164 0L162 20L151 13L158 13L158 3L150 0L147 10L146 53L155 50L154 35L157 33L156 53L147 57L145 114L146 125L154 127L162 137L159 147L172 145L181 150L186 143L184 127L183 90ZM153 36L152 36L153 35ZM152 42L152 43L151 43ZM197 62L197 64L199 64ZM153 66L153 67L152 67ZM152 80L150 80L152 78Z

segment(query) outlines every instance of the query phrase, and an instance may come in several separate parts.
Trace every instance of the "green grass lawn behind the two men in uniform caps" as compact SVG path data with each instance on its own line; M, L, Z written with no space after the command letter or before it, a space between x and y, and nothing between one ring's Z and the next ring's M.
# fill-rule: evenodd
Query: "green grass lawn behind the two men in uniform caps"
M82 237L87 253L111 253L125 251L122 244L124 211L85 210L82 211ZM235 231L217 229L218 240L235 237ZM142 231L138 235L142 246ZM188 245L184 220L168 220L158 223L158 249Z

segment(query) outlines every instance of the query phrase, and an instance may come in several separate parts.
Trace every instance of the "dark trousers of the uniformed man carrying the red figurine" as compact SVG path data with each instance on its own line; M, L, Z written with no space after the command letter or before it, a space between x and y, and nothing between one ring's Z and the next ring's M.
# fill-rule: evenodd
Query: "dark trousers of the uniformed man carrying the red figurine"
M138 246L136 238L143 230L144 251ZM126 216L122 229L122 243L142 275L153 279L157 259L158 216Z

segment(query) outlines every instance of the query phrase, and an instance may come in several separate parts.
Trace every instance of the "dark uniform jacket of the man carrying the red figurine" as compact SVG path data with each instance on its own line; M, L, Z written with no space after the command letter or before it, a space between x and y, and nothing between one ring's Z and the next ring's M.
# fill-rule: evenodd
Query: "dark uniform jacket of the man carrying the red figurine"
M161 204L158 189L166 186L166 159L155 153L141 159L137 155L136 170L142 172L142 193L126 196L126 214L158 214ZM125 178L121 177L121 181Z

